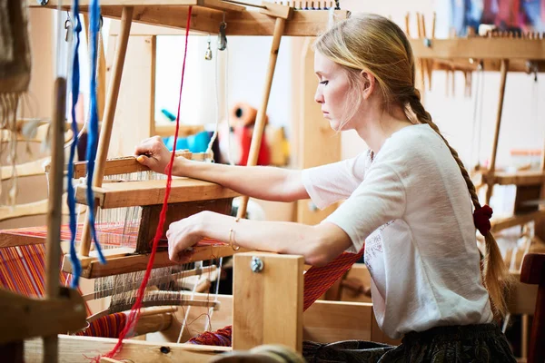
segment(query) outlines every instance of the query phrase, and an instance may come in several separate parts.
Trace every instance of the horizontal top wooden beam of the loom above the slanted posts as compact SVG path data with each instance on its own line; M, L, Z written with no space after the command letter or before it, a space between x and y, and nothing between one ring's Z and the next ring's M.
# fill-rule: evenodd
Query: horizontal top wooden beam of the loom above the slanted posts
M57 4L58 0L49 0L45 6L36 5L35 2L30 6L54 9ZM80 2L82 12L88 11L88 4L88 0ZM224 20L228 25L225 29L227 36L273 34L275 23L273 16L260 11L245 9L241 11L238 5L218 0L104 0L101 2L101 12L105 17L120 19L123 8L133 6L133 21L136 23L183 29L189 5L193 5L191 30L195 33L217 34L220 23ZM228 9L223 8L226 6ZM70 5L64 3L63 9L70 10ZM335 20L342 20L349 14L346 10L335 10L334 13ZM330 12L327 10L293 11L292 16L286 20L283 35L316 36L327 29L329 19Z

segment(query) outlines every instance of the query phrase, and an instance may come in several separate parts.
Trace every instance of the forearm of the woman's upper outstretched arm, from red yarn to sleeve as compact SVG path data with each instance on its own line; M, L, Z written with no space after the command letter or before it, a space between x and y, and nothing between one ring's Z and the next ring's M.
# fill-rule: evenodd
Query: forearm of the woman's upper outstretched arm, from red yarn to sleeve
M267 166L233 166L177 159L174 175L215 182L243 195L266 201L309 198L301 171Z

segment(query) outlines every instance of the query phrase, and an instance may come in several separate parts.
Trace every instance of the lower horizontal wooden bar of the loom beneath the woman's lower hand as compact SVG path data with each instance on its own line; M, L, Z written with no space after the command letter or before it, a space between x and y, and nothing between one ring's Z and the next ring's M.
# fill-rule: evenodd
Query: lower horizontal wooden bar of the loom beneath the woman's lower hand
M85 279L94 279L104 276L120 275L123 273L144 271L149 261L148 254L134 254L127 252L126 249L104 250L108 251L106 263L101 264L96 257L81 257L82 262L82 277ZM119 251L119 253L116 253ZM173 262L168 257L168 251L158 250L155 254L154 269L179 265L200 260L212 260L225 256L233 256L233 254L247 252L248 250L239 249L233 250L229 245L208 245L195 246L193 253L182 262ZM64 255L63 271L72 273L72 265L68 255Z

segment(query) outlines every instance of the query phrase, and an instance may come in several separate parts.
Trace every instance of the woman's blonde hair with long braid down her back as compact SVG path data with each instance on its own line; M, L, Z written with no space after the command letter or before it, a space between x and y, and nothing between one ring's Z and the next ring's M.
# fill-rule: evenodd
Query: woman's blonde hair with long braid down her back
M398 25L380 15L352 15L322 34L314 43L314 50L340 64L349 75L352 85L362 82L358 80L362 78L362 70L372 74L386 112L390 113L393 106L401 106L411 122L429 124L441 136L460 166L475 210L481 208L475 186L458 152L441 135L430 113L421 103L421 95L414 83L415 65L411 44ZM352 89L353 93L359 93L361 88ZM356 107L352 107L354 109ZM504 292L508 288L510 276L491 232L487 232L484 238L486 248L481 265L483 283L489 291L494 314L501 317L507 313Z

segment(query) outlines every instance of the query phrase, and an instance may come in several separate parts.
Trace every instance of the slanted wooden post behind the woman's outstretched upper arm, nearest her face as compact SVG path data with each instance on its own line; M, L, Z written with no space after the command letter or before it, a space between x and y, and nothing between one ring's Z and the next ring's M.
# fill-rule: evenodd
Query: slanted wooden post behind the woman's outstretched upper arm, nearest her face
M269 65L267 68L267 74L265 77L265 86L263 90L262 103L257 112L255 125L253 126L252 144L250 146L250 154L248 156L248 166L254 166L257 164L257 157L261 149L263 131L265 129L265 117L267 115L267 105L269 104L269 95L271 94L272 76L274 75L274 68L276 67L276 60L278 58L278 50L280 48L280 41L284 26L286 24L285 19L280 17L276 18L274 23L274 32L272 34L271 54L269 56ZM243 200L238 209L237 216L244 218L246 215L246 207L248 205L248 197L243 196Z

